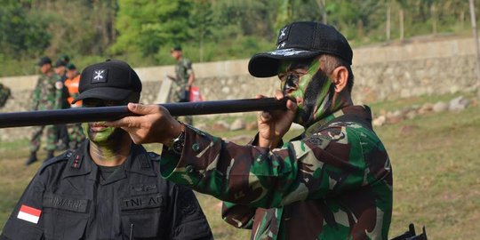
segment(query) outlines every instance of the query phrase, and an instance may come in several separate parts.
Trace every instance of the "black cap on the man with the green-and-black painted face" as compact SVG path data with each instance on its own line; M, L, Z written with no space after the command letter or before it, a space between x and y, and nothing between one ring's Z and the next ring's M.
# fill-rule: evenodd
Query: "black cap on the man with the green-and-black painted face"
M352 48L337 29L320 22L297 21L280 29L276 50L252 56L248 71L257 77L276 76L280 60L304 60L321 53L338 56L352 64Z

